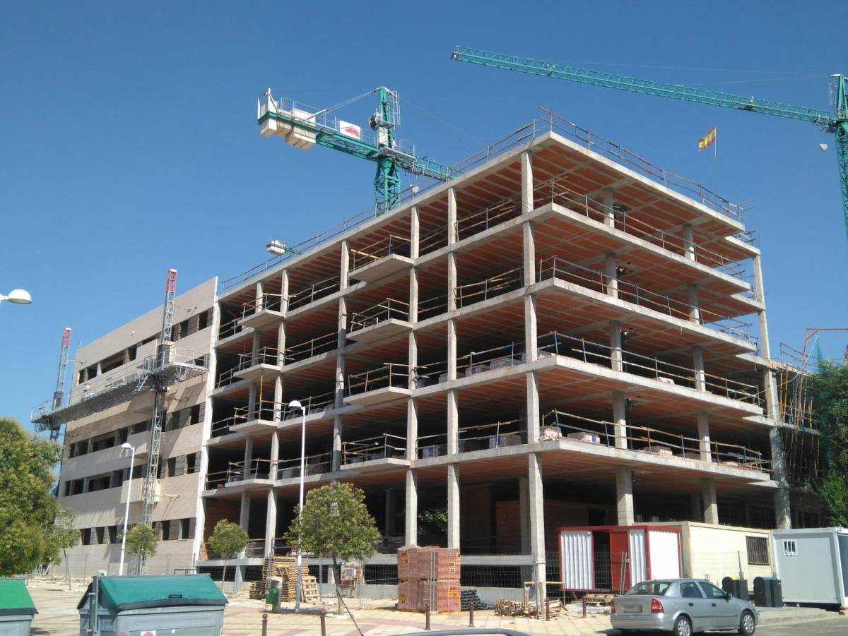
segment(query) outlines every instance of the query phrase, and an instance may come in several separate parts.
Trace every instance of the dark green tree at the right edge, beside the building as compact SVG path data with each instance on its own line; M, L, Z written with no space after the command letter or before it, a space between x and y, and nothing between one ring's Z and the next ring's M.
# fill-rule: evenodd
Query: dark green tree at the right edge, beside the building
M824 477L813 490L828 524L848 526L848 365L822 361L809 376L813 418L822 434Z

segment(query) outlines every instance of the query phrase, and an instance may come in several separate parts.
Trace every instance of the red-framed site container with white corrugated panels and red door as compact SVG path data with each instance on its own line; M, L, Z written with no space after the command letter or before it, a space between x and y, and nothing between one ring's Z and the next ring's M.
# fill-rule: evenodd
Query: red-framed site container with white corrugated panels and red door
M649 578L679 578L680 530L660 526L559 528L562 589L621 591Z

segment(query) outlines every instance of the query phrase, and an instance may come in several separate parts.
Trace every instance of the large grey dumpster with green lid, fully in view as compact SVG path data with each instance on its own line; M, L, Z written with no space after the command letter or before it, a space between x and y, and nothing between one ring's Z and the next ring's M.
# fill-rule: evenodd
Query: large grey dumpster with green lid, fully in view
M91 633L92 621L99 623L100 636L220 636L226 603L209 574L181 574L94 577L76 607L81 636Z

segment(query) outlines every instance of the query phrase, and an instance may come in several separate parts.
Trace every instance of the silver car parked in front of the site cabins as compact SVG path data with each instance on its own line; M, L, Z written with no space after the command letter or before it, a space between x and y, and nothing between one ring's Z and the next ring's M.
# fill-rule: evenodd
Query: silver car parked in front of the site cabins
M622 633L664 630L689 636L706 629L735 629L750 636L756 629L756 608L734 599L700 578L645 581L616 596L611 603L612 627Z

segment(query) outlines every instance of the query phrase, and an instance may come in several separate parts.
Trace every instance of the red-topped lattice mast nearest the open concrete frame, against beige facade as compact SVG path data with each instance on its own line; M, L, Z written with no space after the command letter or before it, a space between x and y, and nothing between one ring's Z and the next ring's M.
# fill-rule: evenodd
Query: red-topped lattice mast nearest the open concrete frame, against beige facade
M170 362L171 358L171 330L174 326L174 296L176 294L176 269L170 268L165 276L165 303L162 310L162 332L159 335L159 345L156 348L156 357L151 362L151 378L155 379L153 385L153 418L150 426L150 440L148 443L148 469L144 475L142 486L142 523L150 524L153 521L153 506L156 504L156 491L159 483L159 456L161 455L162 425L165 422L166 403L165 397L168 393L167 381L163 381L164 375L157 374ZM147 573L147 560L142 558L139 563L139 573Z

